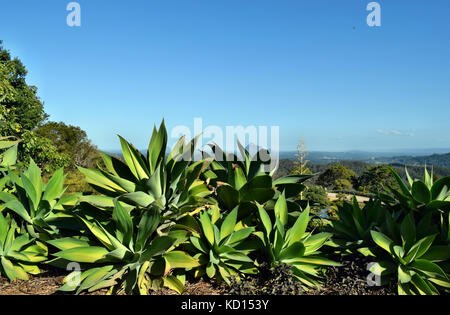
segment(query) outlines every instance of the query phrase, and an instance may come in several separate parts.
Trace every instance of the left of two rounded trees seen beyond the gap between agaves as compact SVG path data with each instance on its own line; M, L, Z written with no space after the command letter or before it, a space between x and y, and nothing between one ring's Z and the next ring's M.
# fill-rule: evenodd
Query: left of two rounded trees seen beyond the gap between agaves
M333 190L353 189L356 177L351 169L337 164L325 170L317 179L317 184Z

